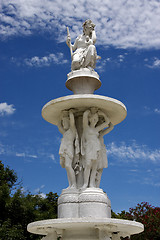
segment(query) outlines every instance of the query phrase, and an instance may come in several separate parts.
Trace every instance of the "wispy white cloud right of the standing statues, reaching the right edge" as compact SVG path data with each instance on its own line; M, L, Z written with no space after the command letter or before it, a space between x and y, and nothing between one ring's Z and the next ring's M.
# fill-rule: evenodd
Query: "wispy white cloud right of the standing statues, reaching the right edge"
M112 142L107 146L108 155L113 156L114 158L119 159L120 161L134 161L138 160L149 160L153 163L160 162L160 149L149 149L145 145L138 145L133 142L131 145L121 143L117 145Z

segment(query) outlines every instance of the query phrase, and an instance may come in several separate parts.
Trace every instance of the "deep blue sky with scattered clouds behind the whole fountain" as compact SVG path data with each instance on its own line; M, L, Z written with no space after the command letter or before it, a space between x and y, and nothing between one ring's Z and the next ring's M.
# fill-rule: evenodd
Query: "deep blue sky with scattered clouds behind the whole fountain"
M109 167L101 188L112 209L147 201L160 205L160 1L2 0L0 2L0 159L24 190L61 193L67 177L59 165L61 134L41 116L65 87L72 43L82 23L96 24L95 94L122 101L126 119L105 136Z

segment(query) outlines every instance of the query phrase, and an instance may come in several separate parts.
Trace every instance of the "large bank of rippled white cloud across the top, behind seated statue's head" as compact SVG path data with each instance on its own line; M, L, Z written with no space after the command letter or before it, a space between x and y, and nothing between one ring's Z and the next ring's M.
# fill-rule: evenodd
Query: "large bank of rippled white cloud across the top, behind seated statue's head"
M2 38L49 31L64 41L69 26L74 39L91 18L98 44L160 48L159 0L2 0L0 10Z

